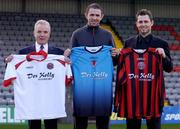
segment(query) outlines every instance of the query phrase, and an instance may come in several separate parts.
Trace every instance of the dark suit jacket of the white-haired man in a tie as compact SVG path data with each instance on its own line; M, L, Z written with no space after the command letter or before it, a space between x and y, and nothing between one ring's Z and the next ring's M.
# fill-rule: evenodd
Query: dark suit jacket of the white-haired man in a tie
M34 51L36 51L36 48L35 45L32 45L19 50L19 54L29 54L30 52L34 52ZM63 53L64 53L63 50L48 45L48 54L63 55Z

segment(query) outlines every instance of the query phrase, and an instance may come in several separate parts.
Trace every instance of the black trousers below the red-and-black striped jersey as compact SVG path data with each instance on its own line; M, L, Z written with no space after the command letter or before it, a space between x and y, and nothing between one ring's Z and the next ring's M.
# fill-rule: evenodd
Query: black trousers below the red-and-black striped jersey
M141 119L127 119L127 129L141 129ZM146 119L147 129L161 129L161 118Z

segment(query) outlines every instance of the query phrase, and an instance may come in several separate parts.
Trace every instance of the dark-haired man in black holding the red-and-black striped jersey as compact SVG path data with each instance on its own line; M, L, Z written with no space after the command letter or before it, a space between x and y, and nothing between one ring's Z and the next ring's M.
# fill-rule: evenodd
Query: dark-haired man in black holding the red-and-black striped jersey
M136 14L136 27L139 34L125 41L124 48L131 47L136 49L156 48L156 51L163 57L163 69L171 72L173 64L170 57L168 43L161 38L151 34L151 28L154 24L152 14L147 9L141 9ZM127 129L140 129L141 119L127 119ZM148 129L160 129L161 118L147 119Z

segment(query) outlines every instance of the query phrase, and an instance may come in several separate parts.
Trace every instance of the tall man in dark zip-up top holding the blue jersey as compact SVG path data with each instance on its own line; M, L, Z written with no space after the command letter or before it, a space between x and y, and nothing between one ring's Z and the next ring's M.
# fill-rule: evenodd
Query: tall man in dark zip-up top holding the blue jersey
M96 47L108 45L113 47L111 49L112 56L116 56L117 51L114 48L112 34L100 28L100 21L102 20L103 16L104 12L99 4L93 3L88 5L85 11L87 24L73 32L70 42L72 48L80 46ZM70 49L67 49L65 53L66 55L69 55ZM109 115L95 116L97 129L109 129ZM87 129L88 117L90 116L80 116L79 114L74 114L74 117L74 129Z

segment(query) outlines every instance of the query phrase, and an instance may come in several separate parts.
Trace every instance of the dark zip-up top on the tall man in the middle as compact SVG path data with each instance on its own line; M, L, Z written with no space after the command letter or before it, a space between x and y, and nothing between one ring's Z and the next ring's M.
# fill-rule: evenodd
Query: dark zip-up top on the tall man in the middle
M85 25L73 32L70 44L72 47L96 47L101 45L114 47L114 40L110 32L99 26L92 27Z

